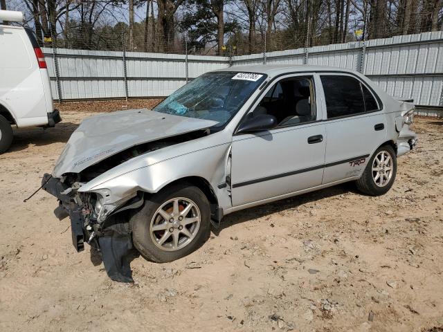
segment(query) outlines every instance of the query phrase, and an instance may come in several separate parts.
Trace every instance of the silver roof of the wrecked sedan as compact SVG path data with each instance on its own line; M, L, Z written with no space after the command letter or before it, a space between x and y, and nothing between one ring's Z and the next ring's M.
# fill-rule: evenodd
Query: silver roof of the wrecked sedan
M289 65L289 64L281 64L281 65L269 65L269 64L260 64L260 65L249 65L249 66L232 66L223 69L217 69L217 71L235 71L235 72L246 72L246 73L262 73L269 76L276 76L285 73L305 73L305 72L318 72L318 71L336 71L336 72L345 72L345 73L353 73L359 74L355 71L350 71L345 68L336 68L329 66L309 66L309 65Z

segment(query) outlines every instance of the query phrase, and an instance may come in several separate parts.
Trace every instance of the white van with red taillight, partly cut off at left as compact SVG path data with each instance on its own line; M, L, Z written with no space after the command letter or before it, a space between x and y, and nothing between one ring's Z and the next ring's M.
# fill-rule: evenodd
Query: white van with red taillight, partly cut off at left
M23 15L0 10L0 20L23 21ZM61 120L53 108L48 69L33 31L0 25L0 154L11 145L11 125L54 127Z

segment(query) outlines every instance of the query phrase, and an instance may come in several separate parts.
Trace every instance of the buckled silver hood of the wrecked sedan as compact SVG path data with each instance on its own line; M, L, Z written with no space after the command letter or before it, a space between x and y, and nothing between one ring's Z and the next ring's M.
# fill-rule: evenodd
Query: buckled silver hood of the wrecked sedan
M78 173L135 145L168 138L217 124L212 120L172 116L134 109L93 116L82 121L66 143L53 170L60 178Z

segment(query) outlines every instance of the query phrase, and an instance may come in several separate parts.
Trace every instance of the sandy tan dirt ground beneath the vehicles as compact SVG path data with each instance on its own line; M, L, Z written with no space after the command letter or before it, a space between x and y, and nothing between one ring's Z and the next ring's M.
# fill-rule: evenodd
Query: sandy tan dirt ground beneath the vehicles
M120 284L75 252L52 196L23 200L82 118L145 103L64 104L55 129L15 131L0 156L0 331L443 331L442 120L415 119L388 194L345 184L231 214L197 252L138 257Z

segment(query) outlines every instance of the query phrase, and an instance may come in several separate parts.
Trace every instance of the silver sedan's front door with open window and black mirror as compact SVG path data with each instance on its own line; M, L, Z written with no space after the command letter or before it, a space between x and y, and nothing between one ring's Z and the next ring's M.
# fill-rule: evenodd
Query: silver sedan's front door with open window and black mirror
M300 84L305 86L299 87ZM262 94L264 97L253 104L252 113L270 113L280 124L269 131L233 136L233 206L321 184L326 145L325 124L319 121L322 114L317 84L318 77L314 75L285 76L270 84Z

